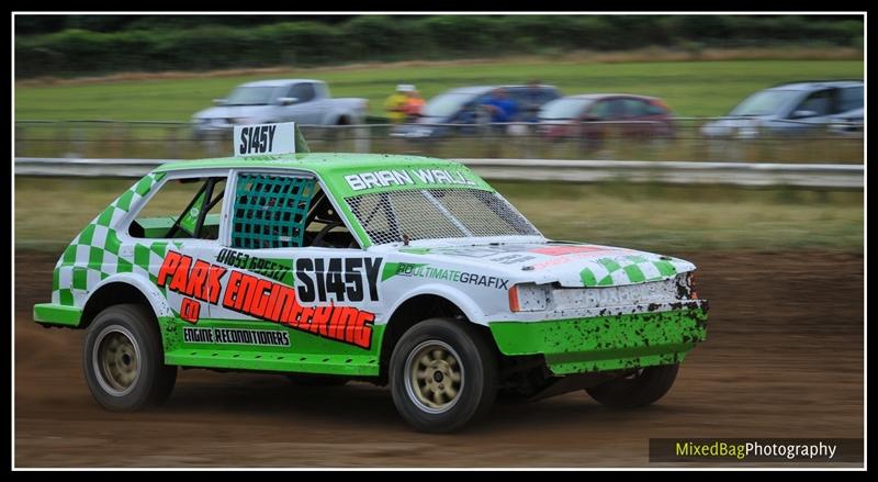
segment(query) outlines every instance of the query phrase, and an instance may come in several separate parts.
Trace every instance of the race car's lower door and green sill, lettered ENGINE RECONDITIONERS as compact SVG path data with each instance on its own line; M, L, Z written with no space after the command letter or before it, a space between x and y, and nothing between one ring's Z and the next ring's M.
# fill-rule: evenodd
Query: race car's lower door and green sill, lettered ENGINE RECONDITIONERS
M222 270L203 317L168 321L168 362L347 375L378 374L383 259L360 249L215 247ZM168 338L168 337L166 337Z

